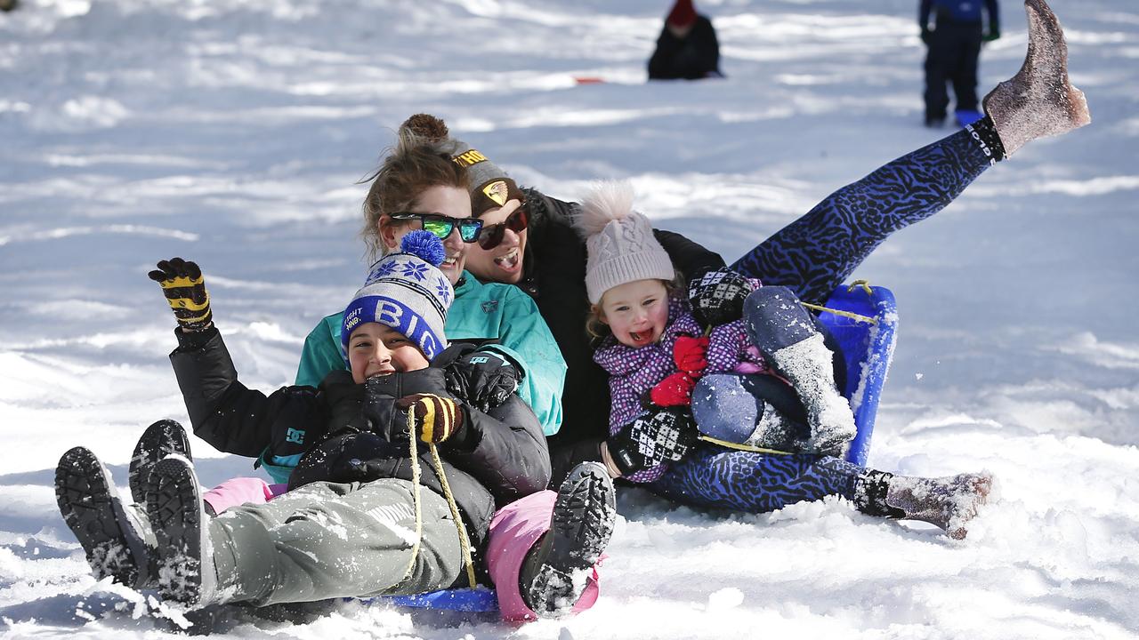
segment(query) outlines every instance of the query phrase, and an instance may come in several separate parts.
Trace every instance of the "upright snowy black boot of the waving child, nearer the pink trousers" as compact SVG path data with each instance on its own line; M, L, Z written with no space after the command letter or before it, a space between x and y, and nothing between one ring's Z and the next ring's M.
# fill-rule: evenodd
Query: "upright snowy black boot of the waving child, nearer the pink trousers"
M219 601L210 519L194 465L169 456L146 483L146 507L158 542L158 593L198 609Z

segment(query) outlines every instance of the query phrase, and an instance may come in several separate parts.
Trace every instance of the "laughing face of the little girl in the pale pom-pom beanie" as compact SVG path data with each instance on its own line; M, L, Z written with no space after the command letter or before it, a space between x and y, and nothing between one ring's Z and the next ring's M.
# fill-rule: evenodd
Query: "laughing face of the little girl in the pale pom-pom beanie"
M669 323L669 290L661 280L633 280L613 287L597 306L598 319L628 346L655 343Z

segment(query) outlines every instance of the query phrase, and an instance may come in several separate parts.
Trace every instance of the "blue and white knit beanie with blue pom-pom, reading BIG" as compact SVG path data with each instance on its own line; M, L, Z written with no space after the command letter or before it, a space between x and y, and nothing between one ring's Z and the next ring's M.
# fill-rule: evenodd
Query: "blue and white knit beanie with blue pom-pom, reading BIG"
M399 253L390 253L371 265L363 288L344 309L341 342L345 351L352 330L364 322L379 322L419 345L427 360L446 347L446 310L454 289L439 270L446 251L431 231L417 229L403 236Z

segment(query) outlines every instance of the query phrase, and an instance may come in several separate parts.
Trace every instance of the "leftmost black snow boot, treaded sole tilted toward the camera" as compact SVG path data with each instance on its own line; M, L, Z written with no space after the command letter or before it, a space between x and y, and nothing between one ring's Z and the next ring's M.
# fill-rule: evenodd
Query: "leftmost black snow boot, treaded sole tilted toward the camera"
M87 553L95 577L132 589L155 585L155 539L145 514L124 506L110 474L89 449L64 453L56 467L56 502Z

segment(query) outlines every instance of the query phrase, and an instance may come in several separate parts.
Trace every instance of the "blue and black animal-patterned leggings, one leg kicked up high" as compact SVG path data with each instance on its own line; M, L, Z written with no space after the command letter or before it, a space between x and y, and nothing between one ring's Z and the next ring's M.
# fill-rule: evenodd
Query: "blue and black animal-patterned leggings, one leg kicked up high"
M826 302L891 233L944 208L989 166L969 132L959 131L835 191L731 269L804 302ZM835 458L702 445L646 486L683 504L756 514L825 495L851 499L863 470Z

